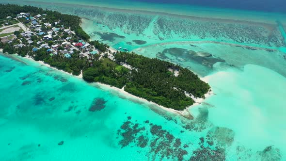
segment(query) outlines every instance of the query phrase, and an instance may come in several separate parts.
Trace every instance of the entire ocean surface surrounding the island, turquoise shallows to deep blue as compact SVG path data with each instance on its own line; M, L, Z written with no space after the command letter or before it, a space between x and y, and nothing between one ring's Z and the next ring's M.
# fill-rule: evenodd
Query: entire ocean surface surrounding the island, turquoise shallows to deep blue
M92 39L187 67L214 95L188 120L0 55L0 160L285 161L285 4L206 2L9 0L81 16Z

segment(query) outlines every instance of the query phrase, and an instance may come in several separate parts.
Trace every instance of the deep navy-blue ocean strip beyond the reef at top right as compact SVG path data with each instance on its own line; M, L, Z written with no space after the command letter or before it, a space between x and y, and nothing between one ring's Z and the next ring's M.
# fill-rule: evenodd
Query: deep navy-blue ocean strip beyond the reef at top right
M148 3L176 3L204 7L286 13L286 0L130 0Z

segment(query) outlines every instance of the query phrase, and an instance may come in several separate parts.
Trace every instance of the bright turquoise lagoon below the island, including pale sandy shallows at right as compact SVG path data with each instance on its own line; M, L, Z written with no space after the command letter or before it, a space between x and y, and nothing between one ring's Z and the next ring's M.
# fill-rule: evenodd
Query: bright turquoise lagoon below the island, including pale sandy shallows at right
M14 59L0 56L0 91L5 95L0 97L0 149L6 154L2 161L286 157L286 110L281 108L286 104L286 78L270 69L246 65L244 71L229 69L206 77L215 95L191 108L195 119L186 120ZM98 98L105 103L97 102L95 108L103 109L91 112ZM58 145L61 141L64 144Z

